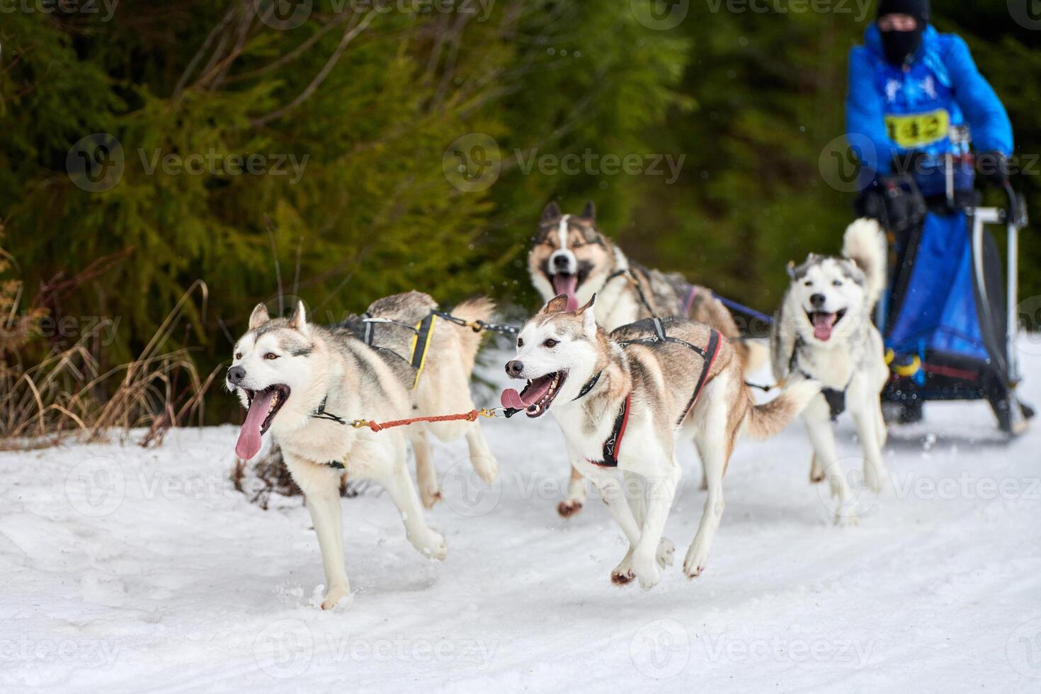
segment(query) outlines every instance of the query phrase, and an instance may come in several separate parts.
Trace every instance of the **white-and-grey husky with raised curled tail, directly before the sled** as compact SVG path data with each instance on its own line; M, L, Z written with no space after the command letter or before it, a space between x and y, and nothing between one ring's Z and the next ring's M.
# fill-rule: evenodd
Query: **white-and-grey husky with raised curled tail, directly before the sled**
M789 267L791 285L770 336L779 382L813 379L824 387L803 413L813 445L810 482L827 477L840 503L840 521L854 519L831 426L843 409L853 415L864 448L865 484L881 491L885 478L880 393L889 368L871 312L886 284L886 253L879 224L858 220L845 231L841 258L811 254L798 267Z

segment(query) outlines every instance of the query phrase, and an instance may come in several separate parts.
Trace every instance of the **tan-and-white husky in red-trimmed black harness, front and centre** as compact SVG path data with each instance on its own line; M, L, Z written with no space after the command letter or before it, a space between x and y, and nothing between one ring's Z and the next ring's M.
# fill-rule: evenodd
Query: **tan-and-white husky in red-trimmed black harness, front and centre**
M651 588L659 567L671 563L674 546L662 531L680 481L676 439L693 439L708 499L683 570L700 575L722 515L722 477L737 437L776 435L819 385L804 381L756 406L736 350L709 326L645 319L608 336L594 318L596 297L577 311L567 310L569 301L551 300L520 331L506 372L528 384L504 391L503 405L529 417L552 410L568 459L596 486L629 539L611 572L619 585L636 577ZM617 470L627 487L645 492L634 494L632 507Z

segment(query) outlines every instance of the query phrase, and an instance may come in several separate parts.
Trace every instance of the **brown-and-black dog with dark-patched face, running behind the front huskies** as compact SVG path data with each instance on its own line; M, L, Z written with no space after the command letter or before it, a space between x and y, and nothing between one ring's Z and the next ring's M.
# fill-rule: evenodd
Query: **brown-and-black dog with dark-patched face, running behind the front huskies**
M596 227L591 201L581 214L563 214L555 202L545 206L528 254L528 273L543 302L564 294L568 310L596 294L594 315L609 332L641 318L679 316L707 324L729 339L740 337L734 317L710 289L689 284L679 273L631 262ZM733 346L746 370L766 361L766 350L758 343L735 341ZM582 475L572 469L567 498L557 511L567 518L584 502Z

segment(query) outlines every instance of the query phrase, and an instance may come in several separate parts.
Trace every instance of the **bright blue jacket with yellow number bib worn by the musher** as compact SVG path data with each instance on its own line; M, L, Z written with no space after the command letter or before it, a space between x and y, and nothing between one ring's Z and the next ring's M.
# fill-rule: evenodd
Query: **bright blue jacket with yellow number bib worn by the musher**
M894 155L938 155L955 147L950 126L968 125L977 152L1012 154L1012 124L961 36L925 27L911 69L888 62L873 23L849 53L847 139L861 163L892 172Z

